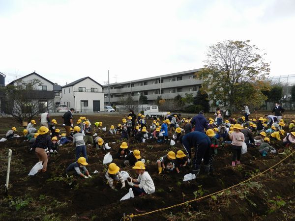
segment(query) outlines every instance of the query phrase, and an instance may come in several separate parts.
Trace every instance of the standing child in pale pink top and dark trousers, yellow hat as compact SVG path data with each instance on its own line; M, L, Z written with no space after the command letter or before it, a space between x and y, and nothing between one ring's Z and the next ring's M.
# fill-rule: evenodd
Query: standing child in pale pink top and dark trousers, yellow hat
M240 164L242 144L245 141L244 134L241 133L241 125L235 124L234 132L230 134L230 139L232 140L233 151L232 166L236 166Z

